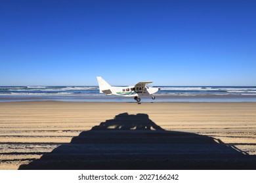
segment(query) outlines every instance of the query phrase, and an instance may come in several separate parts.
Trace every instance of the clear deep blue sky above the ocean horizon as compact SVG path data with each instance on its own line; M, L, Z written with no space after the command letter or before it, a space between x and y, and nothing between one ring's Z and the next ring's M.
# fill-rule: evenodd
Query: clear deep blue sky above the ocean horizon
M256 1L0 1L0 86L256 86Z

